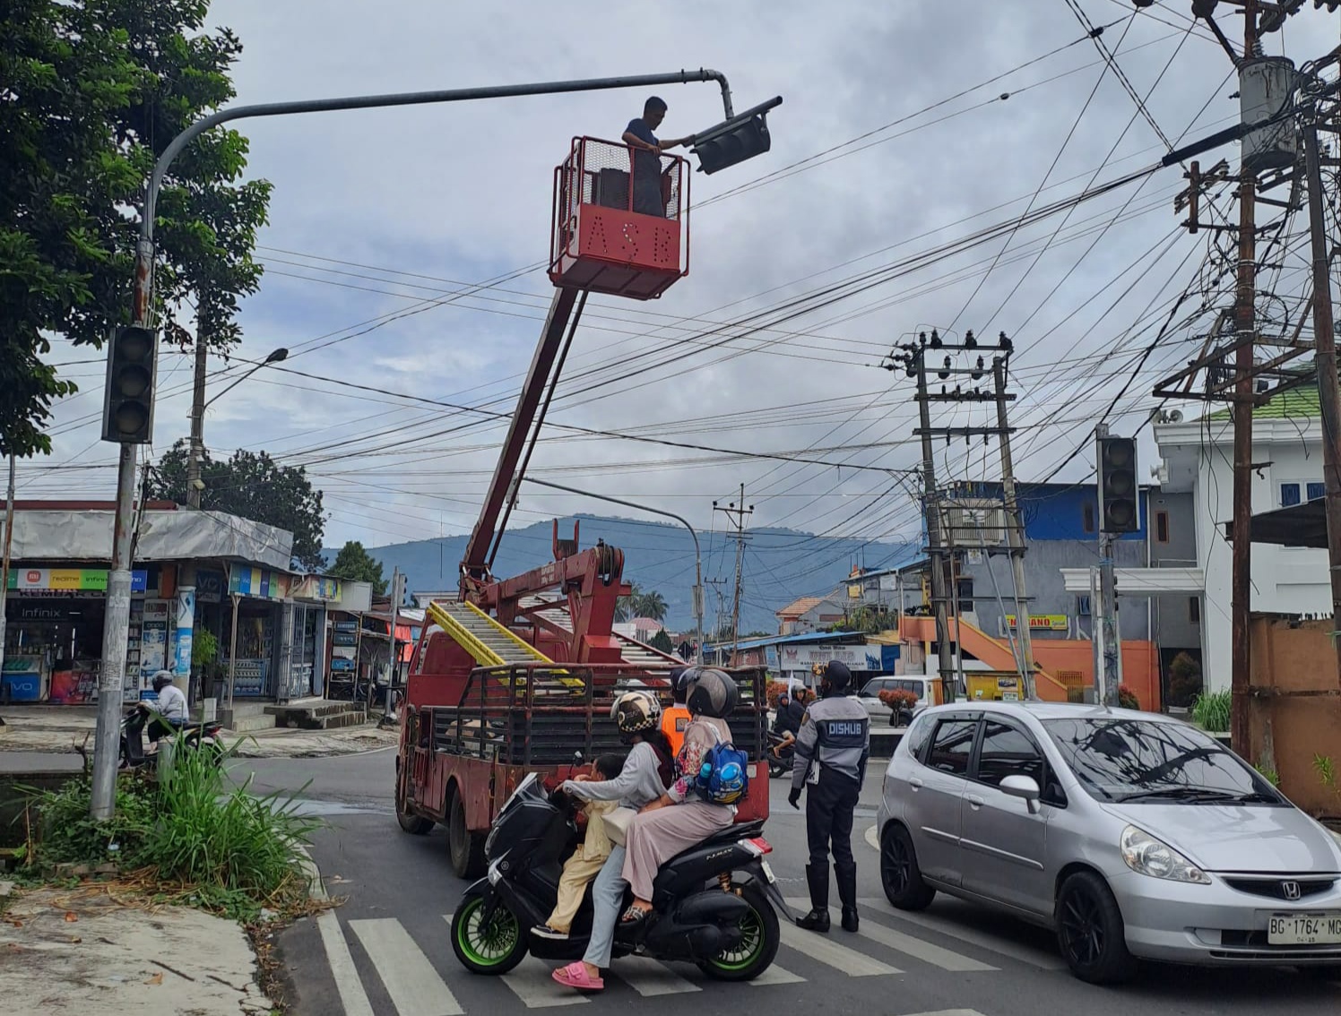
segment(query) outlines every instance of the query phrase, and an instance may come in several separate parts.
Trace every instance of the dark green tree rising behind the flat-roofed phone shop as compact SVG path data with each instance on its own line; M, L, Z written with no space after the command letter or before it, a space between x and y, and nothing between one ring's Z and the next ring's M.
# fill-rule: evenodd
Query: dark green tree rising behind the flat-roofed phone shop
M186 503L189 445L174 444L150 473L149 496ZM279 465L266 452L237 450L227 461L215 461L209 452L200 465L205 489L200 507L243 519L278 525L294 533L294 562L319 570L322 558L322 492L312 488L302 466Z

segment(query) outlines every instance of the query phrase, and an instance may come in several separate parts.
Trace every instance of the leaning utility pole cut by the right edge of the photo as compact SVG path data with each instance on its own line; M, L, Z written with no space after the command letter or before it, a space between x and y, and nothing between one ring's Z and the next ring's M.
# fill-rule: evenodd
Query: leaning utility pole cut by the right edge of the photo
M1313 244L1313 338L1318 351L1318 402L1322 407L1322 479L1326 485L1332 627L1334 631L1341 631L1341 393L1337 382L1337 336L1332 315L1332 257L1322 205L1322 160L1318 154L1320 117L1321 109L1316 106L1303 126L1303 158ZM1332 645L1337 651L1337 677L1341 680L1341 639L1333 638Z

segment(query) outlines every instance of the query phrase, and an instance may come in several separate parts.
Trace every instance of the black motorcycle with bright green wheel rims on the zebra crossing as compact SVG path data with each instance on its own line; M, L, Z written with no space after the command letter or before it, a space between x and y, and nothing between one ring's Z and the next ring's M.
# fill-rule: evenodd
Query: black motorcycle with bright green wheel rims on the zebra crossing
M591 933L590 886L566 940L531 934L558 899L563 859L578 839L573 799L546 792L536 773L508 798L484 843L488 875L465 890L452 914L452 950L465 969L503 974L528 952L559 962L582 957ZM613 954L692 962L721 981L767 970L780 934L774 907L791 917L764 861L772 847L762 832L763 822L731 826L662 865L652 913L616 929Z

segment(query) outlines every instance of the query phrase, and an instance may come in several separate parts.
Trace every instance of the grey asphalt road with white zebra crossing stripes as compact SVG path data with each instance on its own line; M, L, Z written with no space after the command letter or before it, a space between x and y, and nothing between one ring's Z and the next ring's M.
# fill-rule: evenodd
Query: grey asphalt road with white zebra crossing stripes
M448 918L464 883L451 873L447 836L401 832L390 806L392 752L335 759L233 764L257 791L288 789L329 823L315 838L316 859L337 910L304 919L279 937L291 1012L298 1016L507 1016L528 1008L591 1005L590 1016L630 1004L640 1011L866 1012L880 1016L1321 1016L1337 1012L1334 985L1289 970L1191 970L1149 966L1125 988L1075 981L1051 937L1027 925L937 898L924 914L896 914L884 903L876 851L856 836L862 932L837 924L827 937L784 934L763 982L717 984L693 968L616 961L606 991L582 1001L527 960L504 978L461 969L448 941ZM881 767L873 767L857 815L858 834L874 823ZM306 784L306 787L304 787ZM805 822L772 787L767 836L783 893L805 895ZM837 901L834 901L837 902ZM343 993L338 982L343 984ZM683 997L684 996L684 997Z

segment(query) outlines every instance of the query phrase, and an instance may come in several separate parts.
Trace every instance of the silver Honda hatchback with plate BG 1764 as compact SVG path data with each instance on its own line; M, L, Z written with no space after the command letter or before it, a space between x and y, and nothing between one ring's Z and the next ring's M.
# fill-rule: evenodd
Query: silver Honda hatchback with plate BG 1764
M1341 844L1193 726L1054 702L917 714L877 816L885 895L1053 929L1077 977L1137 958L1341 973Z

